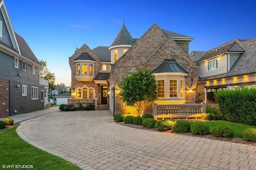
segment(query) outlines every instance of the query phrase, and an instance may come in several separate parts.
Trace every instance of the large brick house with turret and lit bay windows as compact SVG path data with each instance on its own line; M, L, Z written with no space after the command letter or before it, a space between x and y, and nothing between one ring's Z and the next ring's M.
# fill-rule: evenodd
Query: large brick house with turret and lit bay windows
M196 87L199 67L188 57L192 39L156 24L140 39L134 39L123 25L110 47L91 50L84 44L69 57L72 99L95 98L97 105L106 104L114 113L136 115L133 106L120 100L118 84L122 76L149 67L154 70L158 89L162 89L158 90L156 104L195 104L192 89ZM153 113L152 106L146 108L146 113Z

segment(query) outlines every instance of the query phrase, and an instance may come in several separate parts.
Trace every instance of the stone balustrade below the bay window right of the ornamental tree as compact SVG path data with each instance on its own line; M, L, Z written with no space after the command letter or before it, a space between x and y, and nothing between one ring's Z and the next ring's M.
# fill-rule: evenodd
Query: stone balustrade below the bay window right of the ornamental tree
M206 103L157 105L154 104L155 119L202 119L206 112Z

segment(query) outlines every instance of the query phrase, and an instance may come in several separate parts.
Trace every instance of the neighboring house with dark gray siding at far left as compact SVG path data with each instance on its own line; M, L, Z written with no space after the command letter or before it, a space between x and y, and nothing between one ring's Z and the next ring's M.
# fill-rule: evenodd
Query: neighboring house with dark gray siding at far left
M26 41L14 32L4 0L0 0L0 117L44 109L48 81Z

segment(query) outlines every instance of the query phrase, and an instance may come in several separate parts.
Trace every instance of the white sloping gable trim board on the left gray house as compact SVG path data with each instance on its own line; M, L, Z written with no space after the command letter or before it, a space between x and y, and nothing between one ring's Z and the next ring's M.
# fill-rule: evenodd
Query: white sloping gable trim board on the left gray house
M10 16L9 16L8 11L6 9L6 5L4 3L4 0L2 0L0 2L0 10L2 11L2 14L3 14L3 17L4 17L4 21L6 23L8 32L10 34L10 38L12 40L12 45L13 45L14 49L21 55L20 47L18 45L18 41L16 39L16 36L15 36L15 33L14 33L14 29L12 27L12 23L11 23L11 20L10 20Z

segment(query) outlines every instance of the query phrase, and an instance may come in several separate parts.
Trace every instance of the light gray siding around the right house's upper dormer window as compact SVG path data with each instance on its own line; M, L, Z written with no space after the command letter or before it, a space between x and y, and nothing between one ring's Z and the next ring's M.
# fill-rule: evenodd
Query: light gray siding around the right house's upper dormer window
M226 73L228 70L228 55L222 55L221 57L218 57L218 59L219 59L219 68L216 70L207 71L207 61L209 60L199 63L199 76L207 77L207 76L213 76L216 74Z

